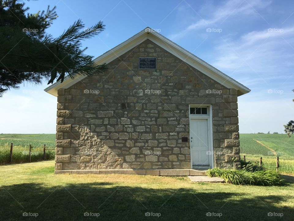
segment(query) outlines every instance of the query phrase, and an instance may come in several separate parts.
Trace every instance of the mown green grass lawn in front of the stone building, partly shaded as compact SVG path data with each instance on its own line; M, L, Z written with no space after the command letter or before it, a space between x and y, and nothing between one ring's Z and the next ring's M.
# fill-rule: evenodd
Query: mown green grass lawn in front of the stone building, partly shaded
M188 177L54 175L54 162L0 166L1 220L293 220L294 184L237 186ZM24 212L38 217L23 217ZM85 212L99 216L85 217ZM221 213L220 217L206 213ZM269 217L269 212L283 217Z

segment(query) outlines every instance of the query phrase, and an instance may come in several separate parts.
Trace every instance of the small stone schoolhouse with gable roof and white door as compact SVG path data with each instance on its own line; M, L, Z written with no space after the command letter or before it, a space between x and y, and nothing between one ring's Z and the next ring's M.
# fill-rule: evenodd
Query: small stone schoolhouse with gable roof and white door
M202 175L240 161L238 96L250 89L146 28L66 77L57 97L55 173Z

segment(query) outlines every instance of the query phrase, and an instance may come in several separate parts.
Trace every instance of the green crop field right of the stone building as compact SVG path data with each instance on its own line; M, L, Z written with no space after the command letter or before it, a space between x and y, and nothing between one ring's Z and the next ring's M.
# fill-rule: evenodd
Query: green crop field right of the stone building
M281 173L294 173L294 136L286 134L240 134L241 157L246 160L259 160L263 166L276 169L276 157L279 157Z

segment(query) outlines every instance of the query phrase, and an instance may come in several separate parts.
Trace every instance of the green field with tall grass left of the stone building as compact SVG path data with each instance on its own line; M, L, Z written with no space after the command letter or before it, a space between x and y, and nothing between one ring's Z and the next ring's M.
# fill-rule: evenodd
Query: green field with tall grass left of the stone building
M9 163L10 144L13 143L13 163L26 163L29 158L29 145L32 145L31 161L43 160L43 145L55 148L55 134L0 134L0 164ZM47 150L46 159L54 159L55 151Z

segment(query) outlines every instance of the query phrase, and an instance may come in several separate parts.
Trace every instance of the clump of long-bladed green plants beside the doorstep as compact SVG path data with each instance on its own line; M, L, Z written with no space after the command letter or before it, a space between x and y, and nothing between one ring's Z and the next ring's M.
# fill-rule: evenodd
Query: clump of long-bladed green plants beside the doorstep
M284 180L281 175L273 170L260 170L255 172L248 172L245 169L209 169L206 174L210 177L223 178L226 183L236 185L258 185L258 186L272 186L282 185Z

